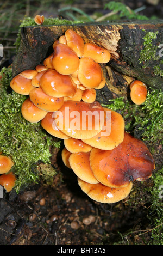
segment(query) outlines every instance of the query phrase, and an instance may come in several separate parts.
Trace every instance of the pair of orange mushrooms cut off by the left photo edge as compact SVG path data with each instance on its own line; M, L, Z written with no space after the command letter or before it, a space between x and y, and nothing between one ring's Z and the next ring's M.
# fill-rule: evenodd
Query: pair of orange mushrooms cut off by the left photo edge
M0 185L5 188L7 192L10 192L15 185L16 177L10 172L14 162L9 156L0 154Z

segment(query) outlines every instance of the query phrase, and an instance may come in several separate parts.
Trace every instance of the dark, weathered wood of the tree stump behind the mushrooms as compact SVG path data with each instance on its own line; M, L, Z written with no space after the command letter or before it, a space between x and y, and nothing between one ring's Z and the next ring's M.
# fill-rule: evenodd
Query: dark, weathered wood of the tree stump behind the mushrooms
M35 69L36 65L42 63L53 52L53 42L67 29L76 31L84 42L97 44L111 53L110 62L102 65L106 86L97 92L99 102L107 103L108 99L117 96L127 97L128 86L134 79L141 80L147 87L162 89L163 77L154 74L154 67L160 65L160 69L163 69L163 64L160 64L163 54L146 68L139 60L146 33L158 32L153 43L157 46L163 44L161 21L22 27L21 44L12 68L13 76L26 69Z

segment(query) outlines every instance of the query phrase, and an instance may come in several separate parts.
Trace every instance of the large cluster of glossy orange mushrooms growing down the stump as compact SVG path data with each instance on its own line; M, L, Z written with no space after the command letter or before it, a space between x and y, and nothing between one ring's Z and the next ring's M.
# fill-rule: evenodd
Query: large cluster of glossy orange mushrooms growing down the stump
M96 89L105 86L100 63L108 63L110 53L84 44L71 29L54 42L53 50L35 70L10 82L16 93L29 95L22 115L64 139L62 160L89 197L118 202L128 196L133 181L149 178L155 166L146 145L124 131L122 116L96 101Z

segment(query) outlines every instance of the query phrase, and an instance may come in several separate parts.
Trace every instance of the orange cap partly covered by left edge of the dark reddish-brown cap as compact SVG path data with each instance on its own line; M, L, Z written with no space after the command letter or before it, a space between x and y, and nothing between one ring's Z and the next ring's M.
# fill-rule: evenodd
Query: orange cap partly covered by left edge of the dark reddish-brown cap
M93 175L89 160L90 152L72 153L69 163L73 172L85 182L97 184L99 181Z

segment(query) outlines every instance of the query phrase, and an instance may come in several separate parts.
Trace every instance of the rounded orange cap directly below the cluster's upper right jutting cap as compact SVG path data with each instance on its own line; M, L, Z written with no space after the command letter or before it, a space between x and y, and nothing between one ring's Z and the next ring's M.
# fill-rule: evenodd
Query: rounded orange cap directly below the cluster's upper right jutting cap
M102 81L101 66L90 58L81 58L78 80L86 88L96 88Z

